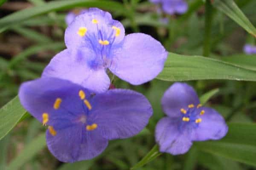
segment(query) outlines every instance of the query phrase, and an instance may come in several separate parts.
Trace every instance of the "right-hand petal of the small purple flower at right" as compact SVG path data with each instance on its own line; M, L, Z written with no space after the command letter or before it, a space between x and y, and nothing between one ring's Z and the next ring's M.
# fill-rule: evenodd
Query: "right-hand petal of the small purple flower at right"
M202 122L198 123L198 127L192 133L192 140L218 140L226 136L228 127L224 118L212 108L202 107L198 112L201 110L205 112L200 116Z

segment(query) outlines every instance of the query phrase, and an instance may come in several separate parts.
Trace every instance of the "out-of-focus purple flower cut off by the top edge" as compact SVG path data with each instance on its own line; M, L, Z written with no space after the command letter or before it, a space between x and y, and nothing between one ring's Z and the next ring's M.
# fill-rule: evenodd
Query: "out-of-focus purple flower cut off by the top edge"
M152 3L160 3L167 14L184 14L188 10L185 0L150 0Z

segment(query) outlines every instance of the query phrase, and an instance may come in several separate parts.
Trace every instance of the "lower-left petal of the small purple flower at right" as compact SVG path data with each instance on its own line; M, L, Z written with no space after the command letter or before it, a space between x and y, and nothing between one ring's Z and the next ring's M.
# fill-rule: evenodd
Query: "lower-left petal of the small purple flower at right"
M169 117L164 117L157 123L155 138L160 152L172 155L186 153L192 145L188 131L180 132L178 120Z

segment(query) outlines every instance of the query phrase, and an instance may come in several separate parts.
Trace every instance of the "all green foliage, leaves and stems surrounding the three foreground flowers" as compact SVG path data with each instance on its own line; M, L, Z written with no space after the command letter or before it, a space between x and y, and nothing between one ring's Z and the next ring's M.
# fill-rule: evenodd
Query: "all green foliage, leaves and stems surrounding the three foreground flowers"
M0 0L0 6L5 2ZM34 6L0 18L0 45L8 43L12 34L29 42L20 43L21 52L1 53L0 57L0 170L26 170L27 166L44 169L45 162L49 170L127 170L131 167L251 170L256 167L256 125L253 123L256 119L253 114L256 56L241 54L246 40L255 43L252 38L256 36L255 0L188 0L188 11L180 16L168 16L169 24L161 22L162 16L147 0L28 2ZM149 99L154 115L148 126L133 138L110 141L107 149L95 159L59 164L44 150L45 128L23 109L17 91L21 82L40 77L51 57L65 48L64 18L67 10L75 7L111 11L113 18L123 23L127 34L134 31L151 34L170 52L163 71L145 85L132 86L114 79L116 88L131 88ZM241 28L253 36L245 37ZM194 80L189 84L201 96L201 103L211 105L225 117L229 132L219 141L195 142L182 156L160 153L154 141L154 128L164 116L161 97L172 82L188 80Z

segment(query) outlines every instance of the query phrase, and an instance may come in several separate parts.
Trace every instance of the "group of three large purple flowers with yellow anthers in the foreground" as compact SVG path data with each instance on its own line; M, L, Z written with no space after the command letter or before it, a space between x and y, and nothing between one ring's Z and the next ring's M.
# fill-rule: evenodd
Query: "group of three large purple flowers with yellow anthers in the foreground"
M110 13L90 8L79 14L65 32L67 49L57 54L42 77L20 86L20 102L48 125L50 152L60 161L92 159L112 139L139 133L153 111L140 93L111 89L106 74L133 85L154 79L167 58L165 48L149 35L125 36L122 24ZM220 139L227 133L223 117L200 105L185 83L173 84L162 99L168 117L156 127L161 152L186 153L192 141Z

